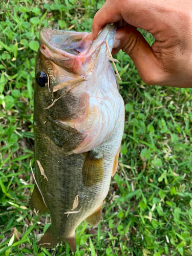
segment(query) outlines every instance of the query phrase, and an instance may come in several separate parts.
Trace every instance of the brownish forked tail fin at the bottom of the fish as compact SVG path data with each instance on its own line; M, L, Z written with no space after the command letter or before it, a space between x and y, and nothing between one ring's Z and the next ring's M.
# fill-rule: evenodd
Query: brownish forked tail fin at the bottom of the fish
M73 252L76 251L75 233L71 237L63 237L63 238L57 237L57 236L55 237L51 233L50 228L51 228L51 226L48 228L48 230L45 232L44 236L41 238L41 240L39 242L39 246L45 247L45 248L51 248L51 247L57 245L59 242L61 242L61 240L64 240L66 243L69 244L69 246Z

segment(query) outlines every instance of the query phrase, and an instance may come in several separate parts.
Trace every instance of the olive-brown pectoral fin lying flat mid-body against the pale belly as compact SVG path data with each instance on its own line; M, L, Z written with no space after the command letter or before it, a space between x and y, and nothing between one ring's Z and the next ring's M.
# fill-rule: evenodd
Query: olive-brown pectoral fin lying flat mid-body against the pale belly
M91 187L103 179L103 157L89 152L82 168L83 183Z

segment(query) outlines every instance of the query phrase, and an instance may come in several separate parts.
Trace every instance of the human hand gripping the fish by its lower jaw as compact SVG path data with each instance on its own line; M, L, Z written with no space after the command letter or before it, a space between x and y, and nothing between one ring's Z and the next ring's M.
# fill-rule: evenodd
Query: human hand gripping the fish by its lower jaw
M93 20L92 39L108 23L123 19L116 49L130 55L146 84L192 88L192 2L106 0ZM148 45L140 28L156 39Z

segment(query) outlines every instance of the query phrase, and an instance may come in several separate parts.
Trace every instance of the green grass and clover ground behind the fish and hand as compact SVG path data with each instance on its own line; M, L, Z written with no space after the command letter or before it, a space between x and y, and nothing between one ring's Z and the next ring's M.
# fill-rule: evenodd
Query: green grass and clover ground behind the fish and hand
M65 243L38 247L50 216L28 208L35 55L40 28L91 31L104 1L47 2L0 4L0 256L74 255ZM192 255L192 91L145 86L129 56L116 58L126 109L119 169L102 221L77 228L75 255Z

